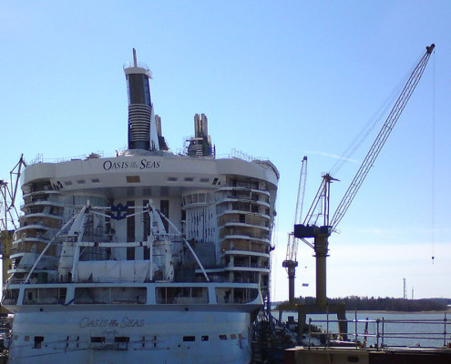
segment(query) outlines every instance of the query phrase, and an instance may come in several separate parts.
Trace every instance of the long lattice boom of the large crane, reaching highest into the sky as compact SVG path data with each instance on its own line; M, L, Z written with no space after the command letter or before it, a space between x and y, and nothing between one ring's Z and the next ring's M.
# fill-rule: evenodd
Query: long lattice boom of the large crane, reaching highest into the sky
M387 119L385 120L384 126L382 126L382 129L379 131L379 134L374 139L373 145L366 154L366 157L364 157L362 165L355 174L355 177L351 182L351 185L348 187L346 193L343 196L342 201L335 210L335 213L333 214L330 223L332 230L334 230L342 220L347 209L353 202L353 199L357 194L359 188L362 186L364 178L368 175L368 172L370 171L371 167L373 167L374 160L379 155L379 152L381 151L382 147L384 147L387 137L392 132L396 122L399 119L399 116L401 116L401 113L403 112L405 105L407 104L407 101L409 101L410 96L412 96L416 85L421 79L421 76L423 76L425 66L427 65L427 61L429 60L429 57L431 56L431 53L434 50L435 46L436 45L434 44L426 46L425 55L421 58L418 65L415 66L415 69L409 76L409 79L407 80L403 88L403 91L401 92L401 95L397 98L395 106L393 106L392 111L390 111L390 114L387 116Z

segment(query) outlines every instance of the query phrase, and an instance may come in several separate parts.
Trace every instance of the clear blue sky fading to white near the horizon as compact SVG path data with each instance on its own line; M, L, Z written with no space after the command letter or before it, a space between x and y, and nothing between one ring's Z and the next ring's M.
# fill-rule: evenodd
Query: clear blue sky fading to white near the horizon
M0 0L0 177L21 153L52 159L125 147L122 65L136 47L153 72L152 100L173 151L192 135L193 115L205 113L219 156L237 148L279 168L272 294L284 299L302 156L305 210L331 156L436 43L330 238L328 295L401 297L405 278L409 296L414 288L415 298L451 297L450 18L448 1ZM332 211L370 143L335 176ZM314 294L312 255L300 246L296 295Z

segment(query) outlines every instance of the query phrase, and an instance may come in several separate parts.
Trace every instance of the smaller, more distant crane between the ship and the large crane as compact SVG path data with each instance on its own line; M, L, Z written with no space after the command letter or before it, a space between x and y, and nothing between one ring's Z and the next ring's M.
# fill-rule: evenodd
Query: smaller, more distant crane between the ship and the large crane
M307 157L302 158L301 173L299 176L298 197L296 200L296 209L294 211L294 224L300 224L302 218L303 197L305 195L305 180L307 179ZM294 303L294 278L296 277L296 267L298 254L298 239L294 238L291 232L288 234L287 255L282 262L282 267L286 268L288 273L288 297L290 304Z

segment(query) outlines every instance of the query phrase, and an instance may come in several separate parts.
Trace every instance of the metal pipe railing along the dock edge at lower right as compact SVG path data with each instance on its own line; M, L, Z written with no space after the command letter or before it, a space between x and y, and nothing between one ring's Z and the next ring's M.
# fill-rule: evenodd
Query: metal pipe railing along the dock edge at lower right
M339 332L340 323L353 329ZM442 319L309 319L307 339L308 347L317 346L317 339L320 339L326 347L351 344L356 348L369 345L374 349L412 346L451 349L450 328L451 319L446 317L446 313ZM343 337L353 339L343 341Z

